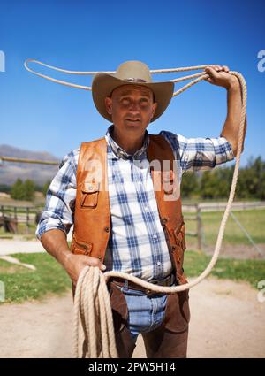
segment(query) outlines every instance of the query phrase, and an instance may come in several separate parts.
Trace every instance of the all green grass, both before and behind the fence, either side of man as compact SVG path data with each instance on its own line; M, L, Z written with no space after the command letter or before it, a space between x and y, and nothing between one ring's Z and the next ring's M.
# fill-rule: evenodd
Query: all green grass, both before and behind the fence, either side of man
M252 236L254 242L264 244L265 210L235 211L234 213ZM206 245L215 245L222 216L221 211L203 212L201 214L204 243ZM186 220L187 231L195 231L195 225L195 221ZM34 236L33 227L30 228L32 235L28 234L27 236ZM4 236L3 232L0 231L0 237L1 233ZM186 240L188 249L196 249L196 238L187 237ZM228 220L223 242L231 244L231 246L249 244L246 235L242 233L242 230L231 218ZM0 260L0 281L5 284L6 302L19 303L25 300L41 299L49 294L60 295L71 288L71 281L66 272L48 254L17 254L13 257L17 257L23 263L34 265L37 270L34 272L23 266L12 265ZM198 276L208 265L209 259L210 257L203 253L186 250L184 265L186 276L188 278ZM221 258L211 275L217 278L245 280L254 288L257 288L258 281L265 280L265 260Z

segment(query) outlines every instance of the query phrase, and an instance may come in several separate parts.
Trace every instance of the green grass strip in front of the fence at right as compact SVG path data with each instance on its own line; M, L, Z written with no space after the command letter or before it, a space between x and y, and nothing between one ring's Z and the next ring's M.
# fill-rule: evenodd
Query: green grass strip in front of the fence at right
M186 251L184 262L186 277L199 276L208 265L210 258L201 252ZM220 258L210 275L221 279L244 280L257 288L259 280L265 280L265 260Z

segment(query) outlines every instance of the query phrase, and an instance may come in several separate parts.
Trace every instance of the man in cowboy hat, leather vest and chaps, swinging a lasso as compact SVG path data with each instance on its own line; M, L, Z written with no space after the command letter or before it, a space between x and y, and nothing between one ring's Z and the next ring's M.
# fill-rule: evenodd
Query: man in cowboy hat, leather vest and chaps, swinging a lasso
M166 172L171 181L174 160L182 171L207 169L236 154L239 81L227 66L208 67L206 73L210 83L226 88L228 94L227 118L216 139L186 139L167 131L148 134L149 123L170 103L173 83L153 82L147 65L125 62L114 75L95 75L95 106L113 125L105 138L85 142L64 157L36 233L70 275L73 291L86 265L132 273L159 286L186 283L180 198L169 201L170 191L164 186L155 189L155 176L163 180L163 172L157 175L150 166L155 159L169 160ZM101 179L89 171L95 160L106 171ZM72 224L70 250L66 234ZM140 333L148 357L186 357L187 291L150 293L120 279L111 280L109 288L119 357L132 357Z

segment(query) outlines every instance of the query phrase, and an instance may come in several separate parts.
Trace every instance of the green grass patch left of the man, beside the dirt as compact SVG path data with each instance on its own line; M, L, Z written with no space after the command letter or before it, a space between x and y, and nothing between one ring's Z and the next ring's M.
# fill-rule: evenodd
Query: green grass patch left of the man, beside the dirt
M42 299L50 294L61 295L71 288L70 278L63 267L48 254L16 254L12 257L34 265L36 271L0 259L0 280L5 285L6 303Z

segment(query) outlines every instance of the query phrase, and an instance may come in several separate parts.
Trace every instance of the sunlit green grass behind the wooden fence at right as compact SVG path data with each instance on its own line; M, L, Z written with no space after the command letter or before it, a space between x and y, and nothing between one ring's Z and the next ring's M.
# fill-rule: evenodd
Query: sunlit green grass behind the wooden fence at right
M254 242L265 243L265 210L253 210L253 211L234 211L235 216L239 219L242 226L246 228L248 234L251 235ZM185 216L191 216L190 213L184 213ZM203 233L205 237L206 245L214 245L216 243L216 237L219 231L221 219L223 218L223 211L203 212L201 213ZM196 221L185 219L186 230L188 232L196 231ZM196 244L196 239L187 237L188 245L193 248ZM246 235L239 228L239 225L234 219L229 217L223 243L229 244L246 244L250 242L247 240Z

